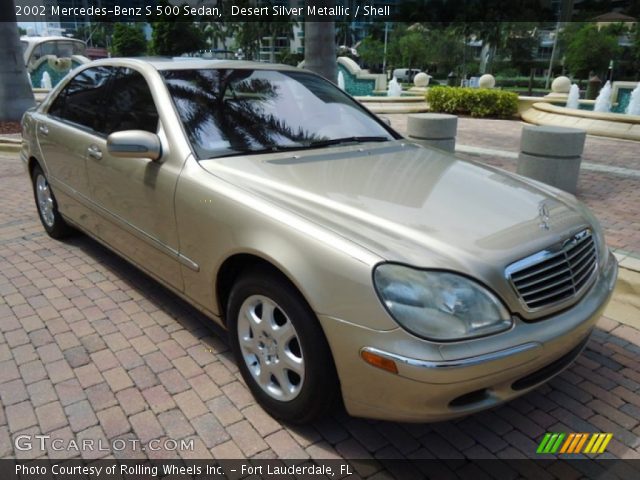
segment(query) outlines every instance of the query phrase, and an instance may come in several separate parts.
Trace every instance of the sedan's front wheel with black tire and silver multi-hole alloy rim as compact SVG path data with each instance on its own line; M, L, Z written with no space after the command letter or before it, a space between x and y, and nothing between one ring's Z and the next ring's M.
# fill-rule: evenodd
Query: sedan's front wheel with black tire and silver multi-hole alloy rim
M227 319L242 377L271 416L309 423L334 405L338 377L324 332L285 278L262 269L241 276Z

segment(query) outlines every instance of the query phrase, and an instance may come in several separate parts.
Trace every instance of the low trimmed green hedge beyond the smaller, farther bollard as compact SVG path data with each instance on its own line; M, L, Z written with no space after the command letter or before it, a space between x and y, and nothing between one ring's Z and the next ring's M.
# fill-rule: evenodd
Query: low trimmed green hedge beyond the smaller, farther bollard
M510 117L518 111L518 95L484 88L432 87L427 102L432 112L472 117Z

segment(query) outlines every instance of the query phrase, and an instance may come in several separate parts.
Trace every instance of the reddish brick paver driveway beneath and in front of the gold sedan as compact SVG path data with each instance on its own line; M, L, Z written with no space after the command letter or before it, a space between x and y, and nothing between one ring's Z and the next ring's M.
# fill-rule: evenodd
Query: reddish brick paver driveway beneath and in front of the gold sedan
M16 156L0 156L0 192L0 457L77 455L17 450L21 433L193 439L194 451L83 456L381 460L360 472L370 476L388 458L534 457L547 431L612 432L606 455L640 457L640 332L631 327L602 318L568 371L469 418L413 425L337 411L286 426L254 403L211 322L86 236L48 238Z

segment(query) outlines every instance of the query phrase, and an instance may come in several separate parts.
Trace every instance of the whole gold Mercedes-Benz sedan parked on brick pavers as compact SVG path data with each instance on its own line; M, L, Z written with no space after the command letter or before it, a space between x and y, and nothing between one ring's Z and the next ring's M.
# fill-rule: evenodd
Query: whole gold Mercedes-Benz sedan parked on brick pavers
M101 60L23 136L48 234L87 233L224 326L289 421L526 393L581 353L617 276L572 195L414 145L296 68Z

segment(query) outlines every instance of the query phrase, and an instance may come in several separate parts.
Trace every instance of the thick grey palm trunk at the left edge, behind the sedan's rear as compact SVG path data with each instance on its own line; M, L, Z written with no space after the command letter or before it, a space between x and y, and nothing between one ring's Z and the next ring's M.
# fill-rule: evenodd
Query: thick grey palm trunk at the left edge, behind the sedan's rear
M35 105L22 58L13 0L0 2L0 121L16 122Z

